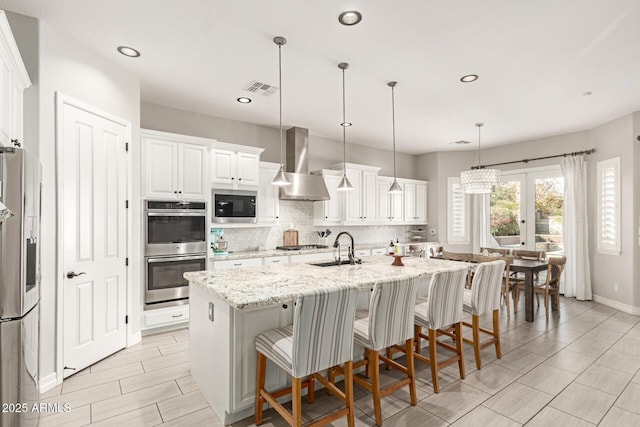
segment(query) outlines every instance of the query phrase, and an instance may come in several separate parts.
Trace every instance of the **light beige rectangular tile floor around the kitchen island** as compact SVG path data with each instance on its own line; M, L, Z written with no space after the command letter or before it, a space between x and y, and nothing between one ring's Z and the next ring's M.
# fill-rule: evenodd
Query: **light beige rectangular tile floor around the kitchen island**
M488 320L488 319L487 319ZM483 351L482 370L466 347L467 377L457 366L440 375L434 394L430 370L417 363L418 405L407 391L382 403L384 426L640 426L640 317L593 303L563 299L561 313L535 322L523 311L502 322L502 359ZM41 418L40 426L213 426L211 411L189 370L188 330L145 336L45 393L49 403L69 403L68 413ZM385 380L397 376L383 371ZM356 424L372 426L370 395L356 387ZM305 421L339 404L317 393L304 404ZM263 425L285 426L267 411ZM234 427L249 427L248 418ZM334 423L346 426L346 421Z

